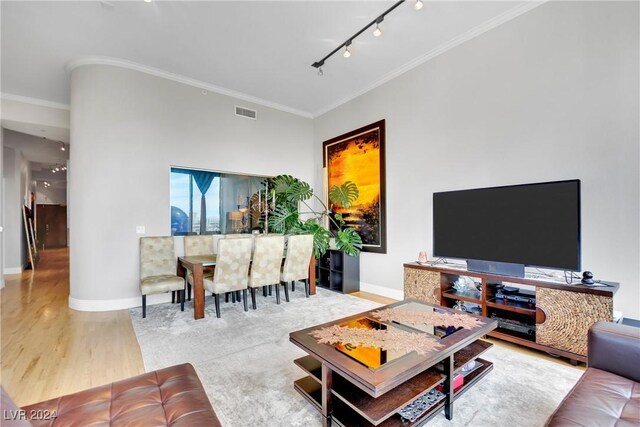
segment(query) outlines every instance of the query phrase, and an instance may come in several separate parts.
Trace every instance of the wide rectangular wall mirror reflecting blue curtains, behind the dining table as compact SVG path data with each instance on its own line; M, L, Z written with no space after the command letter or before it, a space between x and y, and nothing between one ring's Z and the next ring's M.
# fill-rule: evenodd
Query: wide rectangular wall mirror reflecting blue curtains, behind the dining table
M252 209L265 176L171 167L171 235L262 230Z

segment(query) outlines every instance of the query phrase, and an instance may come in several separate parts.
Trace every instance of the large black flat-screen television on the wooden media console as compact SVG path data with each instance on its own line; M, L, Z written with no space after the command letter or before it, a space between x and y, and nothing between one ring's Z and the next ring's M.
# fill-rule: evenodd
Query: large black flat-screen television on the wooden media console
M580 180L433 194L433 255L473 271L580 271Z

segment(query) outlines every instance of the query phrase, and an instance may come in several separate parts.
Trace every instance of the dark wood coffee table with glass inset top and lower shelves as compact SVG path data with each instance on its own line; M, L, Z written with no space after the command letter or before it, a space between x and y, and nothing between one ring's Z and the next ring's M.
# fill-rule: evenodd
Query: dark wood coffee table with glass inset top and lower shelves
M380 314L376 312L382 310L390 310L386 312L391 313L392 318L380 320ZM424 318L433 320L435 317L437 320L432 323L436 324L415 323L415 317L402 319L403 313L420 313L420 316L426 313ZM435 316L430 317L432 313ZM457 316L449 317L452 315ZM396 319L398 316L400 320ZM456 321L448 320L454 317ZM464 327L437 324L460 325L461 322L475 324ZM419 350L420 354L417 350L385 350L350 343L324 344L311 335L336 325L383 333L410 332L420 338L431 338L438 348L429 351L423 348ZM409 299L292 332L289 340L308 353L308 356L294 360L308 374L295 381L294 388L322 414L323 426L332 423L341 426L417 426L442 410L450 420L453 402L493 369L491 362L478 356L493 345L480 338L496 327L497 322L486 317ZM475 361L474 367L472 361ZM457 374L463 375L464 384L454 389ZM436 387L441 393L435 393ZM412 403L425 406L421 401L427 395L435 400L431 402L432 406L417 418L414 412L413 417L403 419L399 411Z

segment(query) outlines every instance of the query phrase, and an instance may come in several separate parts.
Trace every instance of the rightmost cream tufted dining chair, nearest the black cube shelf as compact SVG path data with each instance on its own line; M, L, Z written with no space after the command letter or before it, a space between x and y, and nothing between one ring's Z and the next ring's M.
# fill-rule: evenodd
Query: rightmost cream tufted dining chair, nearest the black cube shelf
M284 284L285 290L291 282L292 289L295 289L297 280L304 281L305 295L309 298L309 263L311 262L311 254L313 253L313 235L298 234L289 236L287 240L287 256L282 268L280 281ZM276 287L276 289L278 289ZM285 292L287 302L289 301L289 293ZM278 292L276 292L278 299Z

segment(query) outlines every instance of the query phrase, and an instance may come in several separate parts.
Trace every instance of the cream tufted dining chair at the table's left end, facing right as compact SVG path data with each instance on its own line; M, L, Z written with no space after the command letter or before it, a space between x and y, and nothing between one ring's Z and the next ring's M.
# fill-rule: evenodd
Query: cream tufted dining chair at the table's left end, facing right
M180 310L184 311L184 278L176 274L173 237L140 238L140 292L142 317L147 317L147 295L178 291Z

